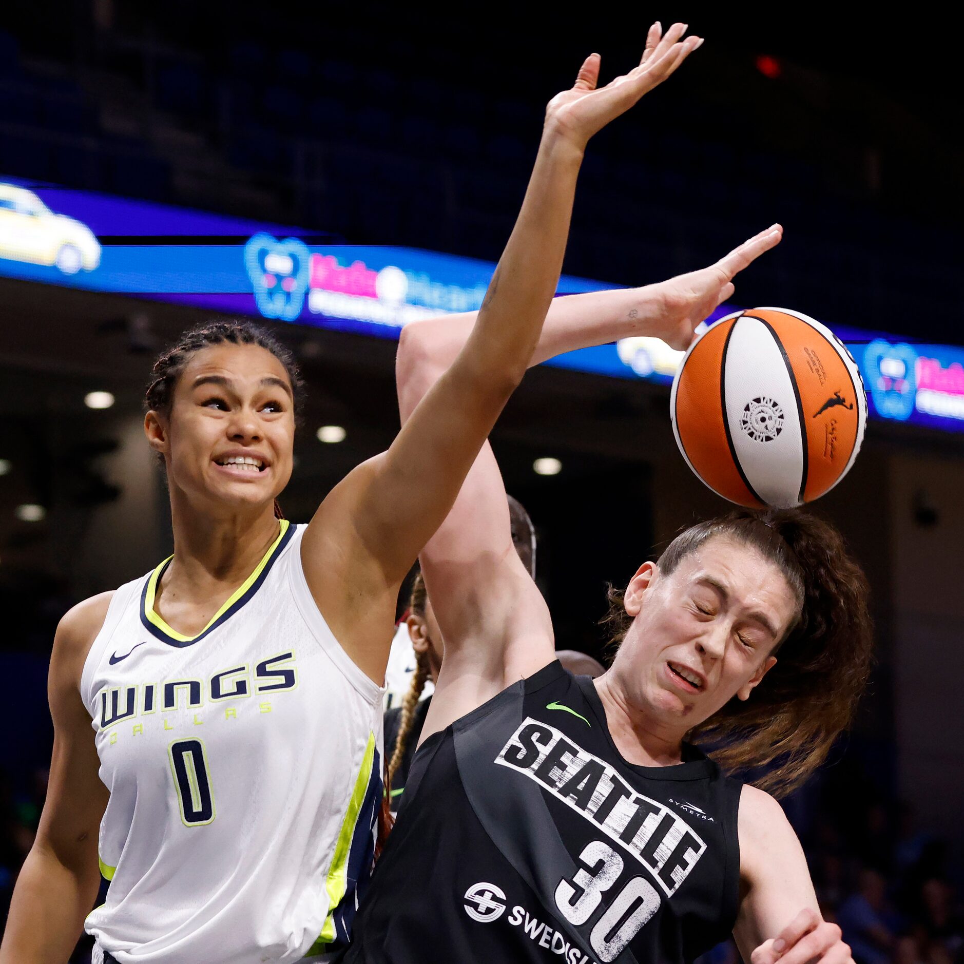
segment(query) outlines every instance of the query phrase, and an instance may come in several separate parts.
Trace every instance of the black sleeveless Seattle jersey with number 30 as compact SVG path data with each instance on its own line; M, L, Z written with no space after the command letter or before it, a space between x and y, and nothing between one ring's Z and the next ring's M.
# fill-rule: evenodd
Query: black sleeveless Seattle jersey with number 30
M344 962L664 964L736 920L740 785L616 749L558 662L431 736Z

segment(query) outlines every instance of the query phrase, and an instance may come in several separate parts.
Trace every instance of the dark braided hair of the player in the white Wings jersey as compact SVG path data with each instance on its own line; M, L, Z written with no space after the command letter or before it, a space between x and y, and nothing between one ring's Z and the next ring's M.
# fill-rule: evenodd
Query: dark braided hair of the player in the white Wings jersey
M297 415L304 401L305 382L301 377L294 353L267 329L240 318L203 322L188 329L173 345L163 351L150 369L150 382L144 399L147 411L170 416L174 405L174 389L177 388L177 383L191 356L204 348L226 343L257 345L271 352L281 362L291 382ZM284 518L278 499L275 499L275 515L279 519Z

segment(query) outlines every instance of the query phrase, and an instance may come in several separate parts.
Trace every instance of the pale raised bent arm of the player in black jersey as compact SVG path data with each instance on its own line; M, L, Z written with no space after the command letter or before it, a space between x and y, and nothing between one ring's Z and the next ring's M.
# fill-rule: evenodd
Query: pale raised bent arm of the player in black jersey
M661 284L556 299L530 362L630 334L684 348L696 326L733 293L736 272L780 236L774 226L709 268ZM446 316L405 329L395 372L403 423L458 355L471 320ZM502 478L488 442L422 550L421 563L445 641L425 739L553 656L549 611L513 549Z

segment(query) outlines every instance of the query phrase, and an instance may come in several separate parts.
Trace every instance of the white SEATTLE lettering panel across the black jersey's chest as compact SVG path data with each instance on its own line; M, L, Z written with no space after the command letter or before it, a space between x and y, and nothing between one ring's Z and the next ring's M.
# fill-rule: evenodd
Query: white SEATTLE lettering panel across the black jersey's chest
M525 719L495 763L536 781L626 847L667 896L707 849L682 817L632 790L612 766L548 723Z

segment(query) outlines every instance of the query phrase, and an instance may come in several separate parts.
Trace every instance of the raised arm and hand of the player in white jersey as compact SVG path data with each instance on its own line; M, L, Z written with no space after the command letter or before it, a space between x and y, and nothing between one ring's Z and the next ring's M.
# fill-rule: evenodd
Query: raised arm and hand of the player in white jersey
M539 340L562 266L576 175L589 139L668 77L699 44L650 31L627 75L597 90L593 54L549 102L522 210L462 351L387 452L328 495L302 547L308 586L350 656L381 680L394 597L448 514Z

